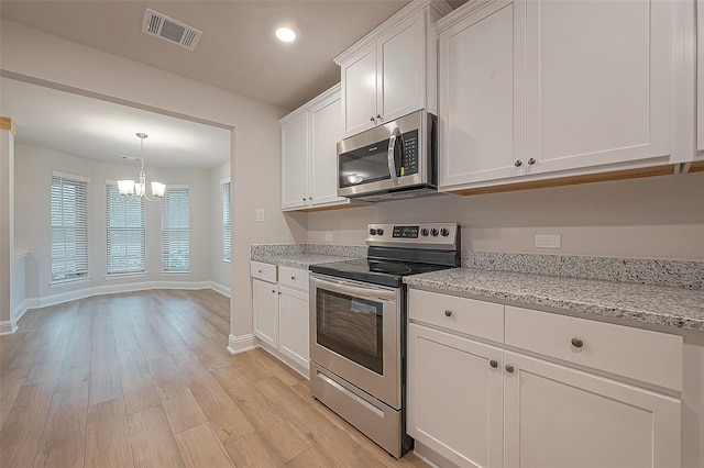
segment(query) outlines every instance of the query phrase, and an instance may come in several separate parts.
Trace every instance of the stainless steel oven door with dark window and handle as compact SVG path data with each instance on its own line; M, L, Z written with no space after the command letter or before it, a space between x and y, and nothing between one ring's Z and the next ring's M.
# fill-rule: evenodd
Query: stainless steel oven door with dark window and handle
M402 289L310 275L310 359L400 409Z

